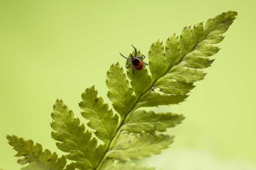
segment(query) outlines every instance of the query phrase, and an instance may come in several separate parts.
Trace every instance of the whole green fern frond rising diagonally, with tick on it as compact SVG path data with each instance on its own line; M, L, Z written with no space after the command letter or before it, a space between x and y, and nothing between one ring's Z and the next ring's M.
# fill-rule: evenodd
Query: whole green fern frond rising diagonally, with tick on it
M195 87L193 83L204 79L206 73L202 69L213 63L210 56L219 51L212 44L224 39L222 34L236 15L236 12L224 12L205 25L201 22L194 27L184 27L180 37L172 35L166 45L159 40L153 43L148 52L151 76L146 67L135 70L135 74L130 67L126 76L119 63L112 64L107 72L107 96L119 116L97 96L94 86L85 90L79 103L81 114L89 121L88 127L96 137L86 131L62 100L57 100L51 114L54 130L51 135L58 141L58 149L67 153L66 157L58 158L55 152L43 151L42 145L34 145L31 140L7 136L9 144L18 152L16 156L24 156L18 163L28 164L22 170L63 170L66 158L72 162L65 170L155 170L126 161L159 154L166 149L174 137L159 132L175 127L184 117L145 111L141 107L183 102ZM132 53L135 55L135 51ZM138 51L137 57L140 55ZM98 139L104 145L99 145Z

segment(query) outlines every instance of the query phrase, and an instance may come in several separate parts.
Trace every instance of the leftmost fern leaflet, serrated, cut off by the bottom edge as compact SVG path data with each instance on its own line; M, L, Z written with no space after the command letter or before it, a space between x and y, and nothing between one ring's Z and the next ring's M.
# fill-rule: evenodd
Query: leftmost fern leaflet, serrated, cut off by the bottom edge
M34 145L32 140L27 141L15 135L8 135L6 138L14 147L13 149L18 152L15 156L24 156L24 158L18 159L18 163L21 165L29 163L22 170L63 170L66 165L65 156L58 158L56 152L51 153L48 149L43 151L42 145L39 143Z

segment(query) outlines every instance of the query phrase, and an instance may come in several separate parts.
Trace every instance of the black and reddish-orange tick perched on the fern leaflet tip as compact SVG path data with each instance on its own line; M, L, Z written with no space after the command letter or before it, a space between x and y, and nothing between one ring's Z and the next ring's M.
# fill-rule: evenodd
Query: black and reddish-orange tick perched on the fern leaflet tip
M141 70L144 66L144 64L148 65L147 63L144 63L144 59L146 58L146 56L144 56L143 54L140 57L137 57L137 50L136 48L132 45L132 47L135 50L135 55L131 54L131 58L125 57L124 55L122 55L120 53L120 55L122 57L124 57L125 59L127 59L128 62L131 62L130 65L125 66L126 68L130 68L130 66L132 66L132 73L134 74L134 69L135 70Z

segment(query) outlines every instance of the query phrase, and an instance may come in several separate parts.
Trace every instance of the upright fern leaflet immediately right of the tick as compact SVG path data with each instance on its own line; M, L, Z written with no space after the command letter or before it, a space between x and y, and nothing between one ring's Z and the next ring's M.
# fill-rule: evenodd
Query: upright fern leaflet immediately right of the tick
M152 81L154 81L166 72L166 58L164 57L164 46L162 42L160 43L158 40L150 46L148 59Z

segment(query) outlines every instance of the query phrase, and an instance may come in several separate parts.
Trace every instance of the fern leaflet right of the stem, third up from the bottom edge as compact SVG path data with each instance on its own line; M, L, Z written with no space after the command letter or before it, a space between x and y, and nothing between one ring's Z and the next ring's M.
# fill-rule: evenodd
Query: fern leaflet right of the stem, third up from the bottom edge
M175 127L184 120L183 115L174 113L154 113L154 111L136 110L126 119L122 130L132 133L155 133Z

